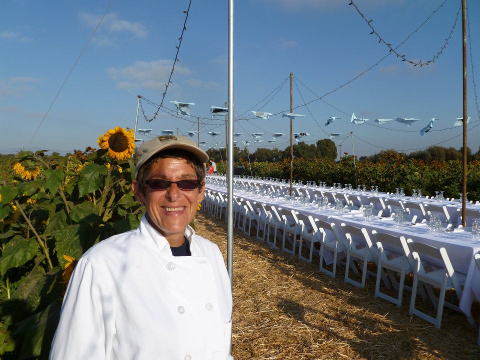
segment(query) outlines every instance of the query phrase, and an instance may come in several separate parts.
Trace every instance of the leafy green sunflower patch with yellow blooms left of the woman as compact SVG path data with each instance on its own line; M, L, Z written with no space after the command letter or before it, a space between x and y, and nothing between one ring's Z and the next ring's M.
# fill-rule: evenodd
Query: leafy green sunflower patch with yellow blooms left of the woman
M115 127L98 144L69 156L19 151L0 182L1 358L46 356L75 259L138 226L133 133Z

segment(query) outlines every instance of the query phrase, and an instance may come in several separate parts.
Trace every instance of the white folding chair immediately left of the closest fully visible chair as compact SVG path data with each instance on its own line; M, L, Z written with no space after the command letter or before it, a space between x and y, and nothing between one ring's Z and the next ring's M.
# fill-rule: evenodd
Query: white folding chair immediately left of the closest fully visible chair
M403 288L405 284L405 274L411 273L410 264L403 251L403 246L406 246L404 236L394 236L386 233L379 233L372 230L371 233L376 241L378 247L378 263L375 284L375 296L384 300L393 302L400 306L403 299ZM390 256L387 256L385 246L389 247ZM384 269L390 279L390 282L395 290L398 291L397 297L392 297L380 291L380 279ZM399 280L395 278L395 272L400 275Z

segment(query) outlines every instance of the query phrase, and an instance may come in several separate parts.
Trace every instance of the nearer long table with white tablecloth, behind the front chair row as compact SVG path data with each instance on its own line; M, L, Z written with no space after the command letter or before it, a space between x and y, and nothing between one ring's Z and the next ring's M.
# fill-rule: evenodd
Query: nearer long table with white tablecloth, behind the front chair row
M207 185L207 189L226 195L226 188L224 187ZM312 205L301 206L298 202L288 202L283 198L259 198L256 194L238 190L234 191L234 195L238 198L249 200L251 203L261 202L267 205L274 205L275 207L295 210L322 221L334 222L338 228L344 222L357 227L365 227L370 233L371 230L377 230L397 236L403 235L406 238L411 238L413 241L423 242L436 247L445 247L454 270L466 274L463 295L459 304L460 309L465 314L470 315L472 302L475 299L480 300L480 272L473 259L473 255L480 251L480 242L471 241L470 233L466 231L432 234L427 226L413 227L405 225L400 229L393 226L393 221L372 220L366 222L359 211L350 211L338 215L332 209L319 209ZM329 260L328 256L325 260Z

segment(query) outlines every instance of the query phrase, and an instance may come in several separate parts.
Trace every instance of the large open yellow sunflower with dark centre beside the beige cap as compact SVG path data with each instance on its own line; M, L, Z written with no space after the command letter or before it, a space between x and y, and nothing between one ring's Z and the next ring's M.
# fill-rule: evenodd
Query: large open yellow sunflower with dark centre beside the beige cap
M118 126L98 137L97 142L102 149L108 149L110 157L117 160L126 160L133 154L135 148L133 130L125 130L124 127Z

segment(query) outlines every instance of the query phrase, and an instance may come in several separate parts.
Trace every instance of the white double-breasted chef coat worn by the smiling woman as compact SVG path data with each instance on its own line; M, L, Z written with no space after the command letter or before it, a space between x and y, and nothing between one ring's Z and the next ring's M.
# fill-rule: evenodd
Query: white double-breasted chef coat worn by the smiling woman
M86 251L68 284L54 360L232 359L231 288L218 246L188 226L173 256L146 220Z

